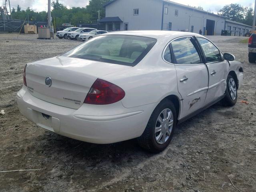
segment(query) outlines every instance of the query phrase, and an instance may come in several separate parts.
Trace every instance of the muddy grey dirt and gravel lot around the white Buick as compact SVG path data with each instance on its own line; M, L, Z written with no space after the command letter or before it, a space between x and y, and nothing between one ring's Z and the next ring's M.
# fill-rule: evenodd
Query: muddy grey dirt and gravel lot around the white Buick
M216 104L178 126L168 148L150 154L134 140L97 145L46 131L19 113L16 92L27 62L56 56L80 42L0 34L0 192L256 192L256 64L243 38L209 37L244 64L231 108ZM246 100L249 104L241 103Z

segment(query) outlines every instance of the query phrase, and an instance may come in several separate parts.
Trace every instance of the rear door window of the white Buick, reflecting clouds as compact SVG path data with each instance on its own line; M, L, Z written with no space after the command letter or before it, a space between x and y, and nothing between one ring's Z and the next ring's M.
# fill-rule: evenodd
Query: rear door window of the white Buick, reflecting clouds
M200 56L194 46L194 40L191 37L180 38L172 43L176 64L200 64Z

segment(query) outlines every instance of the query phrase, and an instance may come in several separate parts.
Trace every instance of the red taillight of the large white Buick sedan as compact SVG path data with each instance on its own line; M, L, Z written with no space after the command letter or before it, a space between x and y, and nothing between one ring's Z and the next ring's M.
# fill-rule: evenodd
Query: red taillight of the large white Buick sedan
M97 79L88 92L84 103L94 105L107 105L116 103L124 98L122 88L102 79Z

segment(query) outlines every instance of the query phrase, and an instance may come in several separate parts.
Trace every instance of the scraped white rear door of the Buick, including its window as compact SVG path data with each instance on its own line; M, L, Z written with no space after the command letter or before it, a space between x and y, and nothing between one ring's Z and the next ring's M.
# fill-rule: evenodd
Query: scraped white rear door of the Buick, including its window
M208 90L208 70L202 63L192 37L171 42L177 73L178 92L183 99L183 118L204 105Z

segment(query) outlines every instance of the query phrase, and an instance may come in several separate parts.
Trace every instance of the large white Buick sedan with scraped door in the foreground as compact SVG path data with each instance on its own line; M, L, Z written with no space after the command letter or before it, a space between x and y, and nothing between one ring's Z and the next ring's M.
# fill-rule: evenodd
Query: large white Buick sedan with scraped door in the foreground
M178 123L236 104L243 68L198 34L126 31L28 63L23 82L20 112L38 126L97 144L138 138L159 152Z

